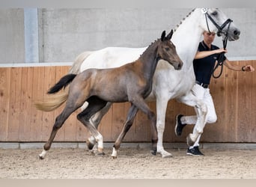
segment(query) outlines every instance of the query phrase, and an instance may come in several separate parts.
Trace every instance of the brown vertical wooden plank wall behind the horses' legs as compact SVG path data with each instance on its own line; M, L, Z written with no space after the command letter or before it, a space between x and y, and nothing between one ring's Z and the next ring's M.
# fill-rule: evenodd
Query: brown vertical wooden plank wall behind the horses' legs
M255 64L256 61L234 61ZM256 66L255 66L256 67ZM64 76L70 67L2 67L0 68L0 141L46 141L55 117L52 112L37 111L33 102L46 96L46 91ZM204 142L256 142L256 73L234 72L224 68L219 79L212 79L210 91L218 120L204 128ZM155 102L149 103L156 111ZM129 103L118 103L103 117L100 124L104 141L115 141L121 132ZM79 110L76 111L78 114ZM174 135L176 114L195 114L194 108L175 100L168 103L164 141L184 142L192 132L187 126L181 137ZM85 141L88 132L72 114L58 131L55 141ZM147 117L138 112L135 123L124 141L150 141Z

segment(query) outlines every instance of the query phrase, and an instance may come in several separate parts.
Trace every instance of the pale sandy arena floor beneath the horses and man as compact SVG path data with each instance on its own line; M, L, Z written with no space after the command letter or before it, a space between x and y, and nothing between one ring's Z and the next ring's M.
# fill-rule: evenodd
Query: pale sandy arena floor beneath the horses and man
M1 150L1 179L256 179L256 150L201 150L205 156L187 156L168 149L171 158L152 156L148 149L122 148L112 159L87 150L52 148L46 159L39 149Z

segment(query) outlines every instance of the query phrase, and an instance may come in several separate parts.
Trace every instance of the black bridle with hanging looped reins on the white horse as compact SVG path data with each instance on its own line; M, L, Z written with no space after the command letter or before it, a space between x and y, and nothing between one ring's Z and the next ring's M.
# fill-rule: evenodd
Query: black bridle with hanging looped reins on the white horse
M218 28L218 31L217 31L217 36L220 37L221 36L221 33L223 34L222 35L222 43L223 43L223 48L226 49L226 46L227 46L227 43L228 43L228 30L229 30L229 27L231 25L231 22L233 22L232 19L227 19L225 22L223 22L222 25L218 25L216 23L216 21L214 21L214 19L209 15L208 13L208 8L202 8L201 9L202 13L204 13L204 16L205 16L205 19L206 19L206 22L207 22L207 28L208 28L208 31L210 31L210 28L209 28L209 25L208 25L208 20L207 20L207 17L208 19L210 19L211 22L213 22L213 25L216 26L216 28ZM228 25L228 29L226 32L222 31L223 28L225 28L225 26ZM217 59L218 63L216 64L216 66L213 68L213 78L217 79L219 78L221 75L222 75L222 71L223 71L223 62L225 61L225 56L224 56L224 52L222 52L220 55L219 55L219 58ZM221 67L221 71L219 73L218 76L215 76L214 75L214 72L215 70L218 68L218 67Z

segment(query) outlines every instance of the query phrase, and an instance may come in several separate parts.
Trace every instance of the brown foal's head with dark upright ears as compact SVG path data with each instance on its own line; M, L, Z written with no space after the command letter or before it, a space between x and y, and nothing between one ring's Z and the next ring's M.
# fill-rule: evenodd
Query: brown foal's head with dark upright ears
M173 30L165 37L165 31L162 31L157 53L159 58L168 61L175 70L180 70L183 66L183 61L181 61L179 55L177 55L174 43L171 42L172 34Z

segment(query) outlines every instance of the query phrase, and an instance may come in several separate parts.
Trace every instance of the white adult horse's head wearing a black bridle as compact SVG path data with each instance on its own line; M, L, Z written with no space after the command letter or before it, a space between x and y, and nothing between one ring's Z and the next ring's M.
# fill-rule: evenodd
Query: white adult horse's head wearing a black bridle
M228 35L228 40L238 40L240 29L218 8L202 8L202 27L204 31L217 32L218 36Z

